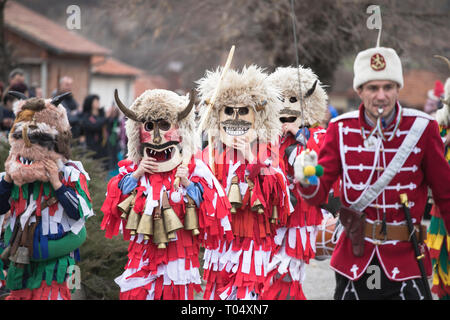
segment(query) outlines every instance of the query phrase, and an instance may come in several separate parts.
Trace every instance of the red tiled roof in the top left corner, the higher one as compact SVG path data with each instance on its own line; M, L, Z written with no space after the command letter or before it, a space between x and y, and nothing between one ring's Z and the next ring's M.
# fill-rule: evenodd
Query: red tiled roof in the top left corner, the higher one
M110 50L83 38L17 2L5 7L5 26L13 32L58 53L107 55Z

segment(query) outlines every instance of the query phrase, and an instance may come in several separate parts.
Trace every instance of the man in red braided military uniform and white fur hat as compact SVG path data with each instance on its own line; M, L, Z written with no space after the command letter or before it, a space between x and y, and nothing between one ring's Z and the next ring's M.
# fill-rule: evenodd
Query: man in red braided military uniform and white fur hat
M324 175L317 185L307 184L304 168L317 163L317 154L303 152L294 164L295 178L302 196L319 205L341 177L342 205L363 213L347 220L341 209L341 222L347 227L330 261L336 271L335 299L423 299L426 288L409 241L400 194L410 200L422 261L430 276L425 231L420 226L427 187L446 228L450 227L450 167L443 157L438 124L427 114L399 104L403 75L393 49L360 52L354 73L353 88L362 104L331 121L318 159Z

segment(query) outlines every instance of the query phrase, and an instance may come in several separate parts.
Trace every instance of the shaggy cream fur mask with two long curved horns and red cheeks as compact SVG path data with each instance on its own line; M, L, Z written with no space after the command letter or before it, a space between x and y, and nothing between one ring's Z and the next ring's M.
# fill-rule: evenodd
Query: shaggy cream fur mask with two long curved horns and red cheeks
M163 89L147 90L127 108L115 99L119 109L128 117L125 129L128 137L128 158L139 163L143 157L158 162L158 172L171 171L183 157L196 150L194 91L190 100ZM198 142L197 142L198 143Z

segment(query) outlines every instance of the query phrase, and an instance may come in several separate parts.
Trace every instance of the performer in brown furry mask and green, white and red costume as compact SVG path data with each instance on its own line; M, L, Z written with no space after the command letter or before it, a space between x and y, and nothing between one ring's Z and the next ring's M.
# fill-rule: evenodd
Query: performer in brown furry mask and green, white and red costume
M59 105L64 97L27 99L14 110L0 181L0 214L11 212L2 253L10 260L10 300L70 299L67 277L86 239L85 219L93 215L89 176L80 162L68 160L70 126Z

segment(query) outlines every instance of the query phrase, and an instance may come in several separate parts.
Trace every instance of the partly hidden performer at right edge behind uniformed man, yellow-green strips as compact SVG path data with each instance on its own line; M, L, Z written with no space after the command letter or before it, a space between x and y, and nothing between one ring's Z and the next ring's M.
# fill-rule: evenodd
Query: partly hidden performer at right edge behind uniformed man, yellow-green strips
M441 57L442 58L442 57ZM450 67L447 58L443 58ZM436 112L436 120L439 124L441 137L444 140L445 159L450 164L450 78L447 78L444 86L444 98L442 108ZM427 245L430 248L431 262L433 263L433 287L439 299L450 299L450 236L446 230L444 220L437 206L431 211L431 221L428 228Z

